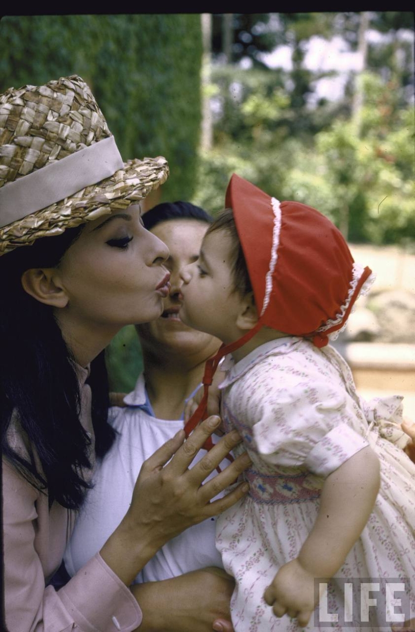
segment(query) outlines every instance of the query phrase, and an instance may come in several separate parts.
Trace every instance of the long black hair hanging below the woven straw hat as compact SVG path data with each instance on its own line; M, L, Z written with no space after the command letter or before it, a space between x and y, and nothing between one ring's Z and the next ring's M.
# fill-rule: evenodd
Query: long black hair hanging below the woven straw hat
M80 420L80 387L75 360L54 319L52 307L23 289L21 276L31 268L55 267L82 226L44 237L0 257L3 305L0 315L0 416L4 456L49 502L80 507L90 487L81 468L90 468L90 439ZM102 457L114 440L107 423L109 393L104 352L91 363L95 452ZM10 441L12 415L28 440L28 457ZM27 443L25 441L25 443ZM35 465L40 459L42 471Z

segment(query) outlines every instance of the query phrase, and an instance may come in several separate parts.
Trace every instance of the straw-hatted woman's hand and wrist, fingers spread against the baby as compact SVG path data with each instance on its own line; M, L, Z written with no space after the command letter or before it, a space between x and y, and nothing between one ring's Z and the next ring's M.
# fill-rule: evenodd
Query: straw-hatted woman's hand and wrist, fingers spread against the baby
M181 430L143 463L131 506L100 550L104 561L127 586L134 580L137 569L143 568L165 542L189 526L225 511L248 491L248 484L241 483L229 494L212 501L250 465L246 453L203 484L241 441L236 431L222 437L208 454L190 467L219 423L219 417L209 417L184 443ZM126 546L131 550L128 559L122 555Z

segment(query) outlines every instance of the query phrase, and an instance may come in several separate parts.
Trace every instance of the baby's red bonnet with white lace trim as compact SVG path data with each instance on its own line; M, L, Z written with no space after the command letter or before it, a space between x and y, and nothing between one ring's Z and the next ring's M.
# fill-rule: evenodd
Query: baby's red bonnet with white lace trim
M260 325L325 346L375 280L371 269L356 264L339 229L306 204L279 202L234 174L226 205L233 210Z

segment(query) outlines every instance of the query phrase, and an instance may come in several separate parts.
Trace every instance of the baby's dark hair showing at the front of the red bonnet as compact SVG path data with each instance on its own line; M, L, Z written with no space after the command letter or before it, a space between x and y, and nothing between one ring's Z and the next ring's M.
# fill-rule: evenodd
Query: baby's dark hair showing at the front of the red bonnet
M246 267L246 261L239 241L238 231L232 209L224 209L215 218L213 224L207 229L207 235L215 231L225 231L231 238L231 268L234 279L234 289L241 296L252 291L251 279Z

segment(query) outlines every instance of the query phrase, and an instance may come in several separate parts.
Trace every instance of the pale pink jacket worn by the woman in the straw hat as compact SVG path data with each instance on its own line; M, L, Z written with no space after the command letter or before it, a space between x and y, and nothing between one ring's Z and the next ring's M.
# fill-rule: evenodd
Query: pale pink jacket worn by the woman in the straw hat
M81 370L81 423L93 436L88 372ZM18 422L14 447L27 449ZM135 598L97 553L68 583L45 587L63 559L75 513L35 489L3 459L4 602L8 632L132 632Z

